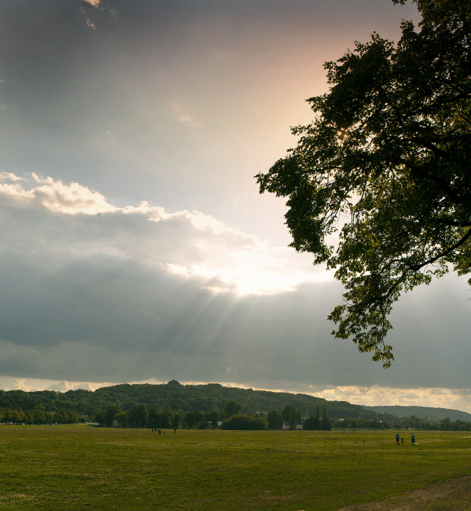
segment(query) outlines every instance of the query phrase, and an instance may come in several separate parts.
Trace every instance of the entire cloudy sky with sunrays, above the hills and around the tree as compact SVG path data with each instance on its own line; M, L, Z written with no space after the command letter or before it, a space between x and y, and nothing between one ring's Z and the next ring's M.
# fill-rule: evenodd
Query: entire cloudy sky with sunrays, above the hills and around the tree
M253 178L296 144L323 62L391 0L4 0L0 388L223 383L471 412L470 287L394 307L384 370L331 336L333 274Z

